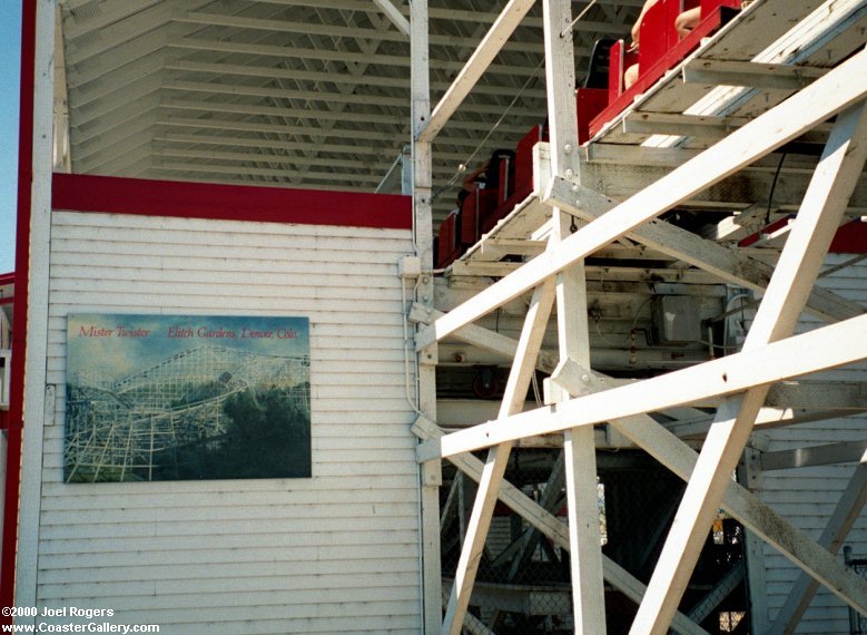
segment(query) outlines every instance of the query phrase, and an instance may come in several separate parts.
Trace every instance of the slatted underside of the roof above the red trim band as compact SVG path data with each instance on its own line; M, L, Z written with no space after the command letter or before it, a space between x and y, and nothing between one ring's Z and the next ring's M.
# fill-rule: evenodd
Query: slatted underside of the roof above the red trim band
M430 3L434 104L504 3ZM640 4L575 25L579 77ZM434 145L440 216L459 165L544 119L540 9ZM372 192L410 140L408 38L373 0L61 0L60 25L76 173Z

